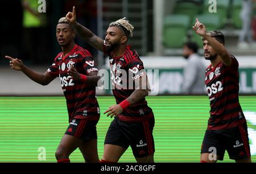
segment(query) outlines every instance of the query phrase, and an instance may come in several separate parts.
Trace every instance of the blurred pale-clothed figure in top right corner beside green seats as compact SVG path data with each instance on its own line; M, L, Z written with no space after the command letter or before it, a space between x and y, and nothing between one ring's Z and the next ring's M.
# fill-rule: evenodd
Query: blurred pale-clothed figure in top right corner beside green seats
M238 48L248 48L250 45L256 47L256 43L253 40L253 33L251 27L251 20L253 17L253 2L256 0L242 0L242 30L240 32L238 40Z

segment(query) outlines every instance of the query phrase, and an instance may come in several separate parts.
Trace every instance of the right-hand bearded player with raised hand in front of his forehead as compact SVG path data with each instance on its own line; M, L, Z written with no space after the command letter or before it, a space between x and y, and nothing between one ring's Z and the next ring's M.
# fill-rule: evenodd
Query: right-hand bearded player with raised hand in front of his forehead
M225 150L236 162L251 162L247 123L238 99L238 61L224 47L220 31L207 32L196 19L193 30L202 36L205 59L205 87L210 100L210 118L201 146L201 162L223 160Z

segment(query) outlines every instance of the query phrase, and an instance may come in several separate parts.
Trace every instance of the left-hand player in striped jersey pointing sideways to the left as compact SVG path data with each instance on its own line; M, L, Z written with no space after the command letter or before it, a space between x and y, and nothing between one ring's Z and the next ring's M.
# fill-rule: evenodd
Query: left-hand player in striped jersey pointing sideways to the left
M61 87L67 101L69 123L55 156L57 162L69 163L69 155L79 147L86 162L99 162L96 125L100 119L100 108L96 99L96 87L100 77L92 55L76 45L76 31L65 18L56 26L60 52L45 73L26 67L22 60L6 56L10 67L22 71L31 80L48 85L60 77Z

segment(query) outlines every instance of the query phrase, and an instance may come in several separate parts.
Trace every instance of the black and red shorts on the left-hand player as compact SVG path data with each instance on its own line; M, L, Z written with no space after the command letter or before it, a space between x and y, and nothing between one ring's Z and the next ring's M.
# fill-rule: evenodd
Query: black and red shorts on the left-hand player
M71 123L69 123L65 135L75 136L83 139L85 142L92 139L97 139L97 123L98 121L92 121L86 118L74 118L71 120Z

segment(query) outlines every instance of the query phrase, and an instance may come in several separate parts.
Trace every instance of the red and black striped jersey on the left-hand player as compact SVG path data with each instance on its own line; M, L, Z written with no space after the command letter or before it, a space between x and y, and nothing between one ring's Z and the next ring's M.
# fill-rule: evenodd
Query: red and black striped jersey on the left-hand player
M50 74L60 77L61 87L67 101L69 122L73 118L98 120L100 107L96 99L96 87L90 87L81 81L73 81L72 77L68 76L68 69L72 64L77 72L86 76L90 72L98 71L89 51L78 45L75 45L65 57L63 52L60 52L48 69Z

